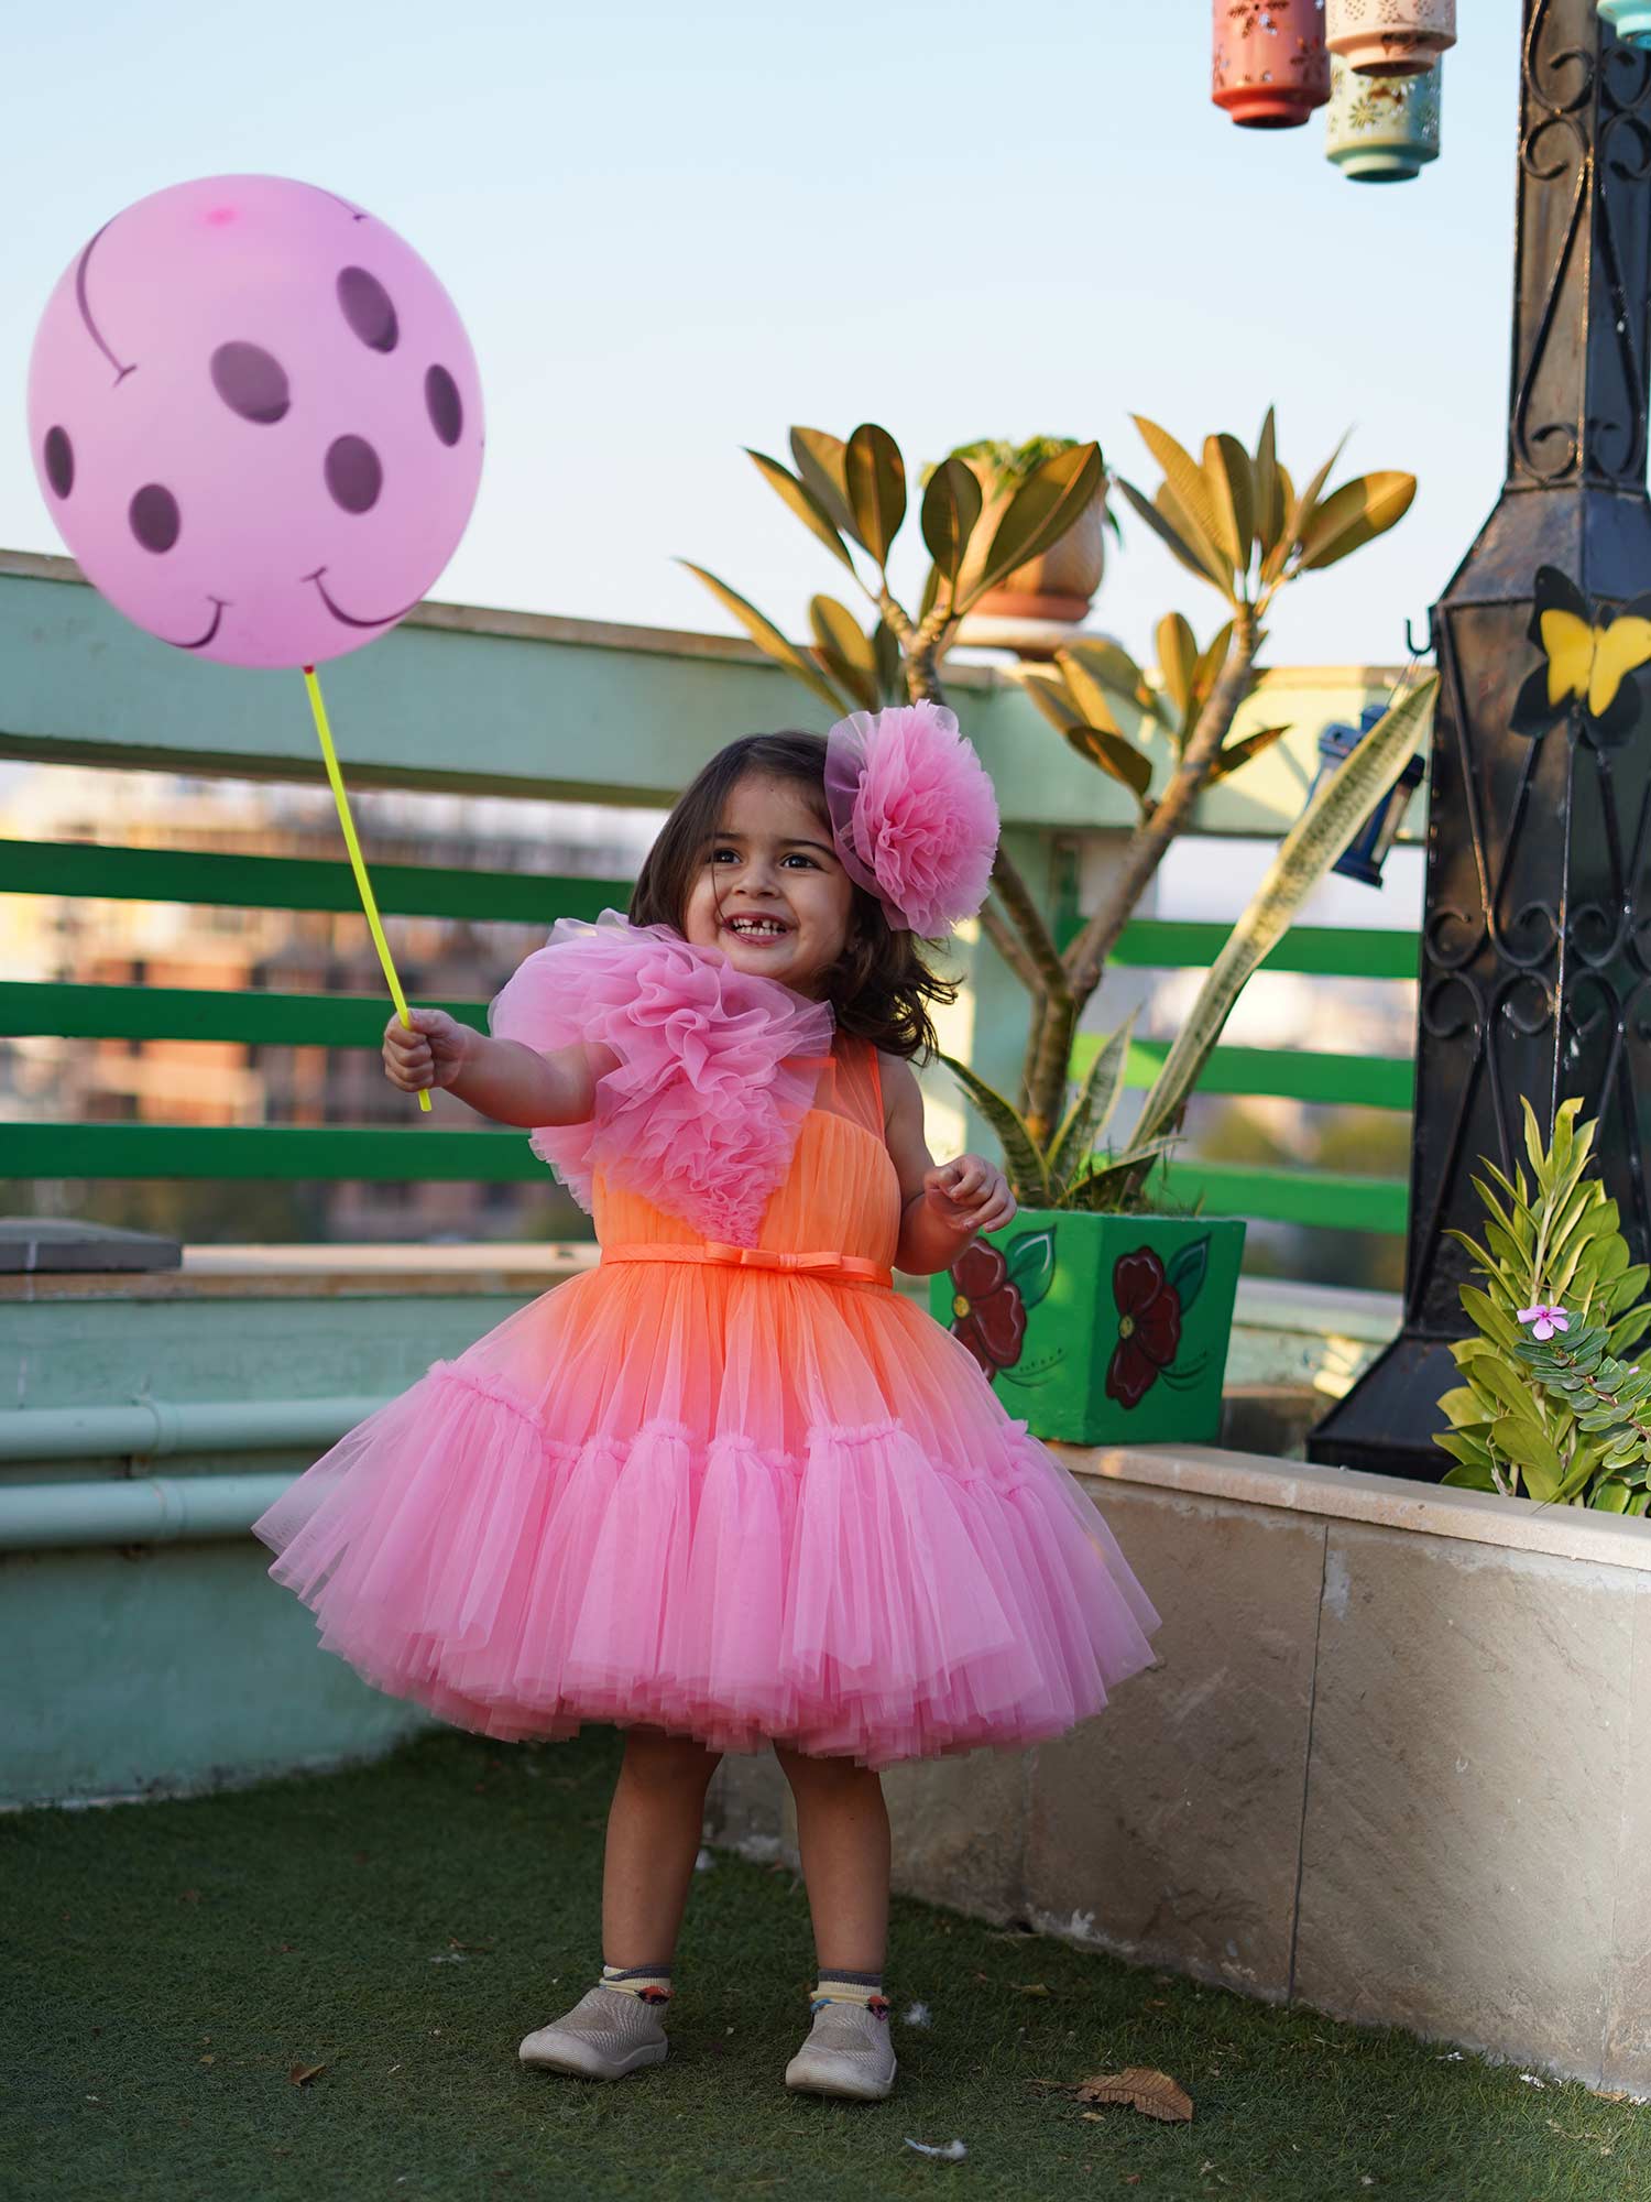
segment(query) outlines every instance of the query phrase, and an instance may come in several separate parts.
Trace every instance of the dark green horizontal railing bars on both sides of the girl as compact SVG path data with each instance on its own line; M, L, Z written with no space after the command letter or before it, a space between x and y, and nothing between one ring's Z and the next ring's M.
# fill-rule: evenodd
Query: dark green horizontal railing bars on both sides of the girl
M447 916L544 925L623 907L627 881L559 879L524 872L460 872L425 865L374 865L379 905L390 916ZM295 857L229 857L176 850L0 839L0 892L81 898L231 905L255 909L357 909L348 863ZM1224 925L1140 920L1116 962L1142 969L1202 969ZM1297 927L1268 969L1321 978L1404 980L1415 975L1413 931ZM429 1000L418 995L416 1000ZM484 1002L440 1002L486 1028ZM0 1035L64 1039L238 1042L244 1046L379 1048L383 995L231 993L178 986L81 986L0 982ZM1094 1053L1085 1037L1074 1070ZM1138 1042L1127 1081L1145 1088L1165 1046ZM1204 1092L1277 1094L1294 1101L1409 1110L1411 1064L1400 1057L1312 1055L1268 1048L1217 1048ZM363 1125L154 1125L4 1123L0 1176L7 1178L453 1178L504 1182L542 1178L544 1165L513 1130L427 1130ZM1237 1169L1184 1163L1182 1193L1211 1207L1277 1222L1352 1231L1402 1231L1407 1189L1396 1178L1325 1171Z

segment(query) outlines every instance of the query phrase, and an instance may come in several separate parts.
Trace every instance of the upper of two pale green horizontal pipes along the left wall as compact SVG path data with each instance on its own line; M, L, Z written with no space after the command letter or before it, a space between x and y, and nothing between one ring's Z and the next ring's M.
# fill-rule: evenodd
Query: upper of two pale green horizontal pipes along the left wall
M385 1396L139 1398L128 1407L20 1407L0 1414L0 1460L125 1460L150 1453L266 1453L328 1447Z

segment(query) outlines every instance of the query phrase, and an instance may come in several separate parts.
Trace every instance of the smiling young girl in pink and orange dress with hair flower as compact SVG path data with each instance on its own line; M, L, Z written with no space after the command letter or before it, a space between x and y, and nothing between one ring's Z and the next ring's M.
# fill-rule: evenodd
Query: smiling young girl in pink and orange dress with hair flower
M885 2096L876 1770L1057 1735L1151 1663L1112 1530L892 1282L1015 1213L982 1156L936 1167L907 1068L953 991L918 938L980 907L995 843L949 711L731 742L630 920L559 920L491 1037L434 1009L385 1033L405 1092L533 1127L601 1262L438 1361L258 1535L381 1689L484 1735L627 1731L601 1984L524 2063L665 2057L707 1781L773 1744L819 1958L786 2085Z

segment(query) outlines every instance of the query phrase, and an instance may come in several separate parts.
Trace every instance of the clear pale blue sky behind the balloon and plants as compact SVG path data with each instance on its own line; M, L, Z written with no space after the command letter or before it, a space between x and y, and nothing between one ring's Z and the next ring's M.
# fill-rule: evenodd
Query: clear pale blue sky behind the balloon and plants
M1409 467L1411 515L1305 579L1272 663L1402 656L1501 482L1517 0L1468 0L1444 156L1345 183L1303 130L1209 103L1209 0L77 0L7 33L0 544L62 548L24 377L64 264L187 176L302 176L453 293L489 403L482 495L434 595L720 630L693 557L803 632L845 577L742 456L883 421L907 458L1145 412L1297 478ZM1096 623L1149 652L1215 599L1129 526ZM916 520L911 522L916 544ZM916 588L918 559L896 562Z

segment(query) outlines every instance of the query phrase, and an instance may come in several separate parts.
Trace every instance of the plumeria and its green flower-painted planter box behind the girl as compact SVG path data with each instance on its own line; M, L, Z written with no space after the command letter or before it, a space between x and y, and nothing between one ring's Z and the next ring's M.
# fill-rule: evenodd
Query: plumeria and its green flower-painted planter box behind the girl
M1043 912L999 843L980 925L1030 995L1019 1094L1008 1101L966 1066L949 1061L949 1068L997 1130L1021 1213L993 1242L977 1242L980 1260L969 1260L971 1249L962 1273L933 1286L936 1312L953 1321L982 1365L995 1361L993 1381L1028 1392L1026 1418L1037 1436L1076 1442L1215 1434L1244 1227L1213 1233L1209 1224L1187 1227L1176 1218L1149 1224L1149 1191L1160 1207L1173 1200L1173 1187L1167 1193L1156 1171L1239 989L1409 762L1437 687L1429 676L1396 698L1319 784L1209 971L1147 1097L1129 1152L1096 1154L1116 1103L1116 1077L1105 1066L1116 1064L1120 1075L1123 1053L1118 1042L1103 1050L1068 1108L1083 1009L1167 848L1191 824L1202 791L1288 731L1264 727L1231 738L1255 685L1261 621L1281 588L1382 535L1415 493L1409 473L1360 476L1327 491L1338 454L1297 491L1277 460L1272 412L1255 454L1235 436L1211 436L1202 462L1156 423L1138 418L1136 425L1165 480L1153 498L1125 480L1118 489L1171 555L1217 590L1228 617L1200 645L1180 612L1167 614L1158 625L1158 680L1114 643L1072 645L1057 652L1054 667L1015 674L1063 740L1129 791L1138 817L1101 907L1065 949L1054 945ZM918 610L909 612L887 579L889 550L907 515L905 462L894 438L874 423L845 443L821 429L792 429L790 449L795 473L762 451L751 458L865 592L876 610L870 632L848 606L814 597L814 650L806 652L715 575L700 566L689 570L834 713L878 709L900 696L944 702L940 674L962 619L988 590L1061 542L1107 484L1098 445L1054 449L1032 462L988 528L975 471L964 458L942 460L922 495L931 564ZM1202 1238L1209 1244L1189 1251ZM1015 1253L1028 1240L1035 1244ZM1017 1339L1021 1321L1026 1330ZM1043 1328L1050 1328L1048 1339ZM1220 1352L1213 1343L1198 1345L1193 1332L1209 1332ZM1010 1348L1017 1348L1013 1359ZM1046 1370L1052 1354L1059 1361ZM1050 1374L1054 1367L1063 1372L1059 1378ZM1149 1376L1149 1367L1156 1374ZM1035 1387L1035 1376L1048 1383ZM1072 1398L1083 1400L1081 1414ZM1182 1411L1173 1427L1160 1427L1169 1420L1160 1409L1178 1400ZM1151 1411L1142 1414L1147 1405Z

